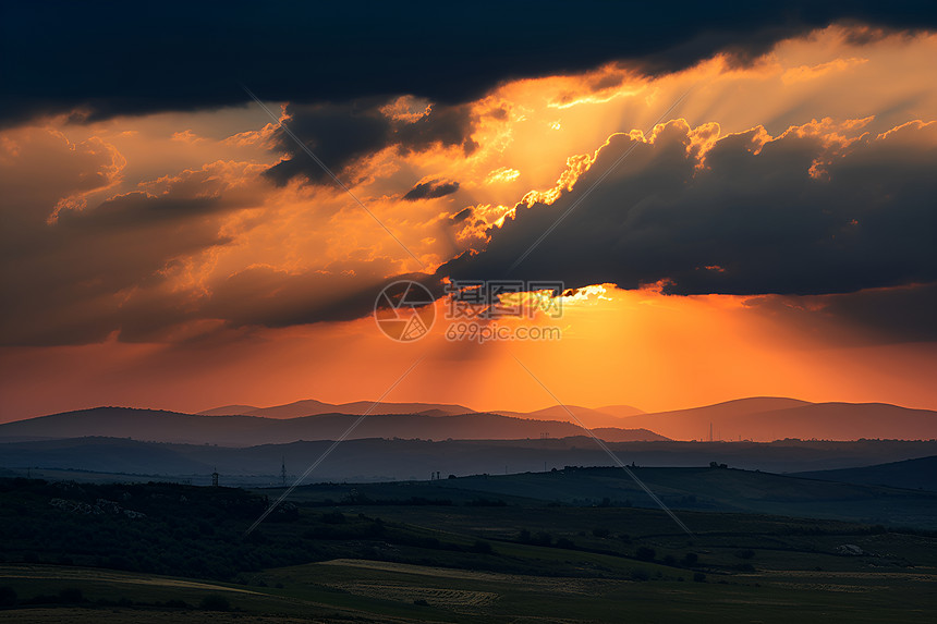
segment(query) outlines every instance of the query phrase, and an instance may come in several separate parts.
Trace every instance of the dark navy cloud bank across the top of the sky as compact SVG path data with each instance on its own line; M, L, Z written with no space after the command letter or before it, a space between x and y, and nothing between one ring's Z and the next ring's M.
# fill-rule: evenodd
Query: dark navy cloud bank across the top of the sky
M727 51L744 63L833 21L937 27L937 5L853 2L4 2L0 125L267 100L412 94L473 100L499 82L631 61L647 73Z

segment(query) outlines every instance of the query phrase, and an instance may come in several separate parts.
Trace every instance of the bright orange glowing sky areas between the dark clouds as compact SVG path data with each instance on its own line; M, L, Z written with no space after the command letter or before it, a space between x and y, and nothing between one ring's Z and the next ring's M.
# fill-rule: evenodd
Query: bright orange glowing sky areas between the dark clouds
M902 129L925 129L933 138L933 78L937 35L860 46L831 27L782 42L747 69L715 58L658 78L609 65L502 85L472 105L472 138L478 144L473 152L430 146L401 155L387 148L351 168L348 183L356 197L425 267L341 189L299 182L277 187L267 180L263 172L283 155L271 150L275 126L256 107L88 125L56 119L48 126L3 131L0 166L22 167L14 171L29 188L49 185L48 162L74 169L78 182L42 196L50 228L66 211L133 194L221 197L229 209L199 217L199 227L220 243L180 253L153 279L110 297L112 307L123 309L172 295L173 310L182 310L178 323L143 342L122 342L114 332L95 344L0 350L0 421L99 404L199 411L308 397L374 399L424 353L427 360L389 401L511 411L550 405L516 356L561 401L577 405L661 411L781 395L937 408L933 344L874 343L857 327L799 325L739 296L677 297L650 286L593 285L563 297L562 319L531 321L561 327L562 340L480 345L448 342L439 326L423 341L394 343L369 317L261 328L184 314L223 304L226 287L232 289L228 301L285 298L278 291L250 290L248 278L259 272L308 279L309 299L346 295L396 274L431 272L484 247L486 230L503 223L519 203L550 204L569 192L611 134L652 142L665 127L658 121L680 120L690 132L687 149L703 155L720 138L742 133L755 148L786 132L822 136L830 158L853 142L888 133L902 140ZM416 121L431 113L431 102L405 96L381 110ZM814 162L811 174L823 176L824 164ZM459 189L402 200L414 184L430 179L458 181ZM466 209L470 216L453 223ZM230 285L238 279L247 283L243 292ZM77 320L94 317L84 309L73 314Z

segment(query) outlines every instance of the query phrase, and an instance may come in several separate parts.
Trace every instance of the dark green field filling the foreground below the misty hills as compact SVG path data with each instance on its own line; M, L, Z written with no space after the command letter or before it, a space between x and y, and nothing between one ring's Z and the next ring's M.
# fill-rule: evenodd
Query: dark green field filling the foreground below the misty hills
M515 486L533 493L531 478ZM0 622L920 623L937 611L927 530L681 510L686 535L659 510L476 486L303 487L245 537L261 494L0 480Z

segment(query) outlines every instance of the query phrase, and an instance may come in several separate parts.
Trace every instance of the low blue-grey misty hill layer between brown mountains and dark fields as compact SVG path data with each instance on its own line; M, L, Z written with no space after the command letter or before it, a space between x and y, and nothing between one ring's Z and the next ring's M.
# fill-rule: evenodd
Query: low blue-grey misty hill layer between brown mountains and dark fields
M302 474L330 441L259 444L146 443L126 439L82 438L0 443L0 467L82 469L191 476L210 482L217 466L227 485L279 484L281 461L290 475ZM155 451L150 452L150 446ZM608 442L624 462L638 466L732 467L775 473L845 468L937 454L937 442ZM112 450L113 449L113 450ZM482 473L541 472L563 466L610 466L612 460L586 436L532 440L352 439L339 444L311 480L370 481ZM266 477L264 477L266 475ZM260 477L258 477L260 476ZM60 477L74 478L74 477ZM97 477L98 479L104 477ZM120 477L111 477L120 480Z

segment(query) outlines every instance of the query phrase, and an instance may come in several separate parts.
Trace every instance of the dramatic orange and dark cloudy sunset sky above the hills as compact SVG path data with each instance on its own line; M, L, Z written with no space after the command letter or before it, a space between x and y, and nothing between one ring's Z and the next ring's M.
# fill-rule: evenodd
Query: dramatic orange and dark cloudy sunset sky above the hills
M937 409L933 8L153 7L2 9L0 421ZM473 280L562 283L482 321L558 333L450 340Z

